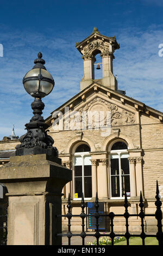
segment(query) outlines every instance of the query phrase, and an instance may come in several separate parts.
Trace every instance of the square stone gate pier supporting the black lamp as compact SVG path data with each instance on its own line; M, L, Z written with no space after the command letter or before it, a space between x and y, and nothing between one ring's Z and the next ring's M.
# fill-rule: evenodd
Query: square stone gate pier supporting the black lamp
M47 154L10 157L0 182L8 190L7 245L61 245L61 192L71 170Z

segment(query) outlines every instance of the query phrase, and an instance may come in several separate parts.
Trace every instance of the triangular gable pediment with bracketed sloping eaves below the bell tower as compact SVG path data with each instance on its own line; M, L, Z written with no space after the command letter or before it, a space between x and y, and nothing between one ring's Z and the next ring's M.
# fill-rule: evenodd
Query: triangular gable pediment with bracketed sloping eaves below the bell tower
M142 102L136 101L133 98L94 82L53 111L51 116L46 119L46 123L49 124L49 128L52 127L54 121L59 118L60 115L63 124L62 128L58 126L58 130L70 130L70 128L75 130L73 126L76 126L76 124L80 126L82 118L85 117L83 127L85 127L85 129L88 127L91 128L90 122L86 119L86 115L90 111L98 113L105 112L105 117L106 113L109 112L111 126L139 124L140 113L145 113L148 120L154 118L156 121L162 122L163 119L162 112L156 111ZM54 115L57 112L59 115ZM74 117L76 119L75 123ZM57 120L55 123L57 124ZM96 124L92 125L92 127L96 127ZM105 125L105 122L100 125Z

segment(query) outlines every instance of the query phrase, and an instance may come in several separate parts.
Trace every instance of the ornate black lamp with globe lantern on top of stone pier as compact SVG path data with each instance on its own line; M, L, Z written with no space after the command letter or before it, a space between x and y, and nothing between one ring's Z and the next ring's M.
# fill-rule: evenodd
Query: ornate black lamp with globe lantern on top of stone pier
M52 92L54 80L44 66L45 60L42 59L42 53L39 52L37 57L34 60L33 69L28 71L23 78L27 93L35 97L31 104L34 115L30 119L30 123L25 125L27 133L19 138L21 144L16 146L16 155L48 154L58 156L57 148L53 147L53 138L47 135L48 125L41 116L45 107L41 98Z

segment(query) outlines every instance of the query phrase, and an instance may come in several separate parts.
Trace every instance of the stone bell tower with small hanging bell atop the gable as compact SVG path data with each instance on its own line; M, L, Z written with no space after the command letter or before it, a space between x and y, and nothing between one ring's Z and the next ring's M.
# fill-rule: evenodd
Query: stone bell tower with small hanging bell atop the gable
M76 48L82 54L84 61L84 76L80 82L80 90L93 82L98 82L112 90L117 90L117 80L113 75L112 60L114 51L120 48L115 36L108 37L99 33L95 27L90 36L82 42L76 42ZM95 56L100 53L102 58L102 78L95 80ZM99 69L99 65L98 65Z

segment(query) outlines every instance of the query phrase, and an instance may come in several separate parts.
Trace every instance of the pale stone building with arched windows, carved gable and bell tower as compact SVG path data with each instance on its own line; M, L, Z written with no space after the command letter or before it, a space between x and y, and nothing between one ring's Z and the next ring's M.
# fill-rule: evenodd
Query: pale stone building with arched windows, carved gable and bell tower
M145 213L155 212L156 180L163 196L163 113L146 106L118 90L113 75L114 51L120 48L116 38L101 35L97 28L76 43L82 54L84 76L80 92L55 109L46 119L59 157L72 169L72 181L63 189L62 212L67 212L70 193L72 214L80 214L80 202L105 202L106 211L124 213L127 192L130 214L139 212L140 191ZM102 58L103 76L95 80L95 56ZM0 154L14 154L18 140L2 140ZM7 153L6 153L7 154ZM8 155L10 155L8 154ZM2 159L1 164L9 161ZM72 218L72 230L81 230L80 218ZM139 218L129 220L130 231L140 231ZM145 218L146 230L155 230L155 220ZM125 230L124 220L116 218L114 229ZM63 220L62 230L67 229ZM106 223L109 230L109 223Z

